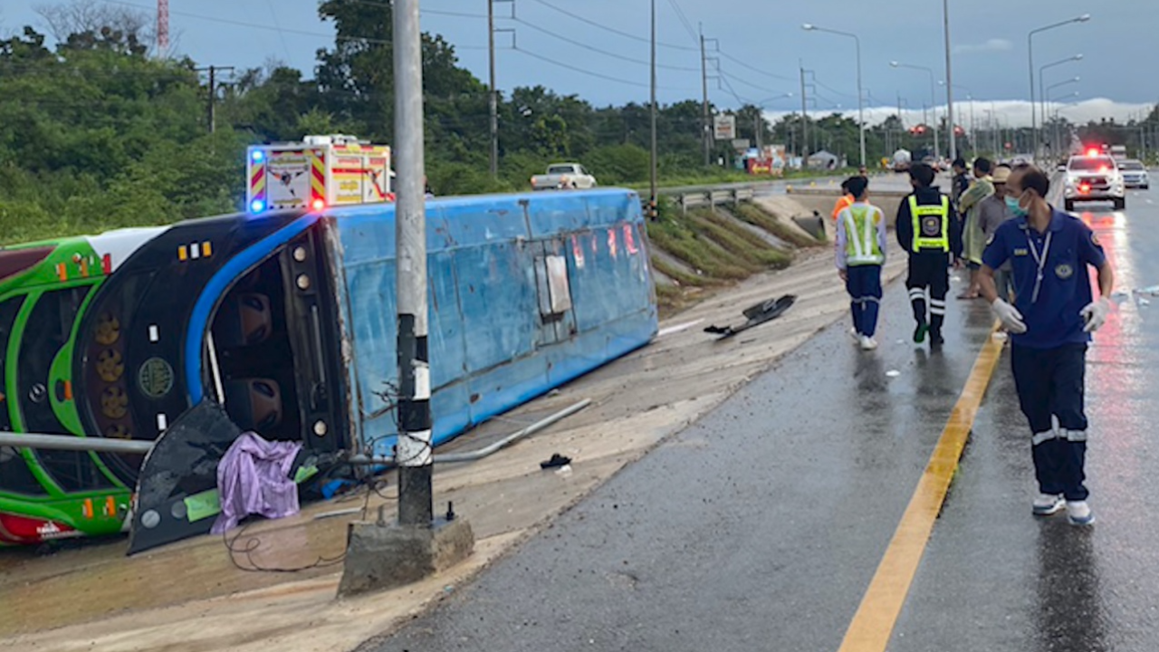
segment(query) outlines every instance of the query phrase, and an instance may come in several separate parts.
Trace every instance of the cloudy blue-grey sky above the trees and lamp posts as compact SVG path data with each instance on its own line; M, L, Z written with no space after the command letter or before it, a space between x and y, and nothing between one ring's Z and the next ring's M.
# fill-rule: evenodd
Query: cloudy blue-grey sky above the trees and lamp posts
M315 51L333 45L333 28L319 20L315 0L169 2L177 52L202 65L252 67L279 59L312 72ZM43 3L0 0L0 29L43 26L34 9ZM151 0L116 3L151 14L155 9ZM486 81L487 0L422 0L421 6L423 29L454 44L461 64ZM497 21L500 28L515 29L513 36L496 36L501 88L544 85L596 106L648 100L648 0L496 0L498 16L511 16L512 7L516 20ZM936 80L945 79L941 3L935 0L656 0L656 8L663 103L700 99L700 51L693 32L701 24L705 36L716 39L709 56L719 59L720 71L710 64L709 96L717 106L736 106L739 97L764 102L773 114L800 110L800 60L812 71L808 94L816 103L810 102L810 110L855 110L853 39L803 31L804 22L860 36L867 107L896 111L901 95L910 115L920 116L923 106L931 103L928 74L894 68L891 60L931 67ZM969 121L967 94L975 100L975 119L983 119L990 102L1007 121L1027 119L1029 113L1018 102L1029 95L1027 32L1084 13L1092 14L1089 22L1035 36L1035 68L1084 56L1047 71L1048 86L1081 78L1055 88L1051 96L1083 101L1067 109L1079 119L1101 114L1124 119L1159 99L1159 77L1151 72L1159 70L1154 0L950 0L954 85L960 87L955 100L962 102L963 114L957 122ZM939 104L945 104L943 87L936 90ZM793 96L785 97L787 93Z

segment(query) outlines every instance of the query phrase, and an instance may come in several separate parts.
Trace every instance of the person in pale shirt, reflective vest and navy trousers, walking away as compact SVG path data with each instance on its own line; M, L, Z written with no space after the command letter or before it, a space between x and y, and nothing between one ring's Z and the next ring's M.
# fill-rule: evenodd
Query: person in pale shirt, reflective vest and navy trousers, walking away
M885 216L868 203L869 179L852 176L845 182L853 203L837 218L837 273L845 281L853 312L852 334L862 350L877 348L881 306L881 266L885 262Z

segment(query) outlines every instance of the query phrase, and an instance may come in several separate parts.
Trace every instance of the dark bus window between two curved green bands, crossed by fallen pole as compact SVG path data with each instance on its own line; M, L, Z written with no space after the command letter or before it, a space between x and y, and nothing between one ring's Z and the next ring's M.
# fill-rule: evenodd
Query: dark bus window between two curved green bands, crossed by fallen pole
M49 400L49 369L68 341L80 305L92 285L44 292L24 324L16 361L16 396L29 433L68 434ZM88 491L114 485L88 452L38 450L34 454L64 491Z

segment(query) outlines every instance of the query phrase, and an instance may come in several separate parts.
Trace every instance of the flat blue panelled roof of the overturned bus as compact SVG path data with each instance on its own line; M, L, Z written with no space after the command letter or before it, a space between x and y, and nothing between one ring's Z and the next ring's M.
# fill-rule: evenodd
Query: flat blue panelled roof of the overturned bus
M336 265L351 439L388 455L396 433L384 392L396 377L394 205L335 210L323 220ZM428 203L427 233L436 444L656 334L634 193L436 200ZM553 311L545 295L561 288L566 307Z

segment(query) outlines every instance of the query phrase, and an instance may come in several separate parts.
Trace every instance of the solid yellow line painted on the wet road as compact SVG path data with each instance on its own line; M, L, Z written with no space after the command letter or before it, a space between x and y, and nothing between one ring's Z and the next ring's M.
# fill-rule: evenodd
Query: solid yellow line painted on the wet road
M954 405L941 439L930 456L921 480L910 498L910 505L902 515L902 522L897 524L894 538L861 599L850 629L845 631L845 639L838 652L884 652L889 645L897 616L902 613L913 574L930 541L930 533L946 500L954 471L957 470L962 449L970 437L978 405L982 404L982 397L994 374L1003 343L993 336L986 338L962 396Z

